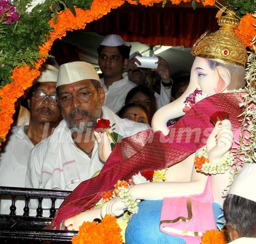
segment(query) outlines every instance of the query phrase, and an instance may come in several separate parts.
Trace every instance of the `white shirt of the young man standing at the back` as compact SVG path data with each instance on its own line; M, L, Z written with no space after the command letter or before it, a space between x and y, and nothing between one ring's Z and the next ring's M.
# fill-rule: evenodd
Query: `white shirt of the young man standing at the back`
M114 82L108 87L108 89L105 86L104 79L102 78L101 86L105 91L104 105L106 105L114 113L117 113L123 107L127 93L132 90L132 88L136 87L133 82L128 80L127 76L122 80Z

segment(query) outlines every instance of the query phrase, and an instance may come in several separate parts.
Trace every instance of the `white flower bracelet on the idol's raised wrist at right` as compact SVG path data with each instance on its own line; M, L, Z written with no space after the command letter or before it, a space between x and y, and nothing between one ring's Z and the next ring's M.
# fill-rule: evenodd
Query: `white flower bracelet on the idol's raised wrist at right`
M206 146L203 147L197 156L199 158L201 156L207 158ZM200 171L206 174L224 174L225 171L229 169L229 166L233 166L234 163L233 153L228 151L223 155L222 159L218 163L205 162L202 164Z

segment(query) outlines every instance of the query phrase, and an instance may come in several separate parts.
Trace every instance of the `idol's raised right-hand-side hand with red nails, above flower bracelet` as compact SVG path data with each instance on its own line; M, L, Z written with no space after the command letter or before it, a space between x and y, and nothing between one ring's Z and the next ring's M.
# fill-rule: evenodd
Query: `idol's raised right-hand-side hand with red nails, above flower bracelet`
M217 163L230 150L233 139L230 121L228 119L218 121L206 142L209 161Z

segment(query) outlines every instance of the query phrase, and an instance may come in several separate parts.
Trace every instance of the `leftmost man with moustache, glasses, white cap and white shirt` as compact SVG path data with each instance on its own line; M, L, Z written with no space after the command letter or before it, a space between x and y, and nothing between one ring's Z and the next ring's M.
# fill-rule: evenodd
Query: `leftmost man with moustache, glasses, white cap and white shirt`
M28 93L29 124L11 128L0 153L0 185L25 187L27 164L32 148L46 139L57 127L62 116L57 103L56 82L58 69L43 65L41 75ZM1 196L1 214L9 214L11 199ZM16 197L16 215L23 215L24 198Z

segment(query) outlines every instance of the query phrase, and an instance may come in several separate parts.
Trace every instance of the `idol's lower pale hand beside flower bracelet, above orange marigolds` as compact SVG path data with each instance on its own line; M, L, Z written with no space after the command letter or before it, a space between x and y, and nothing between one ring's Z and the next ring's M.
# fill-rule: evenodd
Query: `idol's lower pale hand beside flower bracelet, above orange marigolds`
M104 218L105 215L119 216L125 209L126 206L122 200L116 196L101 207L101 217Z

